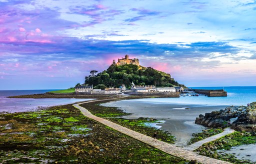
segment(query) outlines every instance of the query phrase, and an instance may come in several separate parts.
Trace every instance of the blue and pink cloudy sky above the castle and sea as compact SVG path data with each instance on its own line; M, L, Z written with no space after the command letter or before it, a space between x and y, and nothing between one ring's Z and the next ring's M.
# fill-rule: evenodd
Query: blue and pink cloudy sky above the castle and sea
M0 90L83 83L112 59L186 86L252 86L256 0L0 0Z

